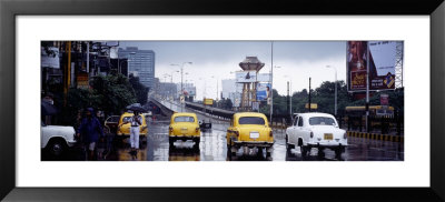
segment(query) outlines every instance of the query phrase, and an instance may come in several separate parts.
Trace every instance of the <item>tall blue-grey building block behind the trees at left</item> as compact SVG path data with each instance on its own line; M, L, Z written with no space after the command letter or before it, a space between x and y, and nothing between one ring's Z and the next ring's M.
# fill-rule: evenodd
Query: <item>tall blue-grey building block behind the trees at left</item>
M155 88L155 51L137 47L119 48L119 59L128 59L128 74L139 77L140 83L150 91Z

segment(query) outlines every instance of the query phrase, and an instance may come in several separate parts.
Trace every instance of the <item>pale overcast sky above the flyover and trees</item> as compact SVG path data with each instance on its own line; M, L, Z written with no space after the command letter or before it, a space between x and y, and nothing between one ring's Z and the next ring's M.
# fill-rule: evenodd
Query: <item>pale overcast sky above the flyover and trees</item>
M241 70L238 65L247 55L255 55L265 63L260 73L268 73L271 65L270 41L121 41L120 47L138 47L140 50L155 51L155 77L162 82L179 70L171 63L186 64L184 81L196 84L197 98L202 99L206 85L206 97L216 98L217 82L221 91L221 80L235 79L230 71ZM275 41L274 42L274 89L279 94L287 93L287 81L291 81L291 91L307 89L309 77L312 87L318 87L323 81L334 81L346 78L346 42L345 41ZM214 79L214 78L217 78ZM201 79L199 79L201 78ZM180 82L180 73L174 73L174 82Z

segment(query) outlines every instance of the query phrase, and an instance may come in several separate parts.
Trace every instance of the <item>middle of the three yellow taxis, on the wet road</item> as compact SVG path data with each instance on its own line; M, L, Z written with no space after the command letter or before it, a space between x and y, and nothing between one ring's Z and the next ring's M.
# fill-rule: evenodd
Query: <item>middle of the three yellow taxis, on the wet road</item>
M194 147L199 148L201 131L196 113L174 113L170 119L168 135L170 147L177 140L192 140L195 142Z

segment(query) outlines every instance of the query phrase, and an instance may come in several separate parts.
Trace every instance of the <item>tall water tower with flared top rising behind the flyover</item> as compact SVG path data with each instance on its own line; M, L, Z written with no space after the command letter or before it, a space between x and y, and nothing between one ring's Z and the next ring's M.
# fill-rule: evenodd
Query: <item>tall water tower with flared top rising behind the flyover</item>
M251 102L256 102L256 83L258 71L265 65L257 57L246 57L243 62L239 62L239 67L243 69L238 73L237 82L243 83L243 94L241 94L241 110L250 111Z

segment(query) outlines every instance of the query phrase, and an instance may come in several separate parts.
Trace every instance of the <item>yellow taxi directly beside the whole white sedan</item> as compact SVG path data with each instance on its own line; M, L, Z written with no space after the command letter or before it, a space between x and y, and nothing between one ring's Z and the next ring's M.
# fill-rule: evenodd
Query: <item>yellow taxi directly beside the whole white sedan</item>
M257 112L235 113L226 138L230 156L241 147L258 148L258 151L266 149L267 155L270 155L274 145L274 134L267 118Z

